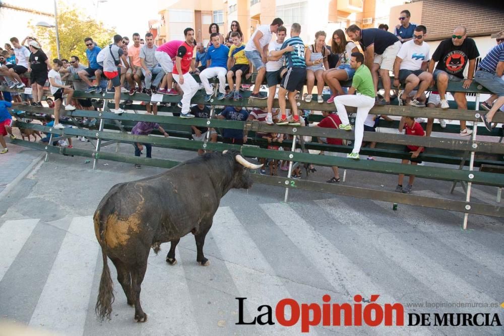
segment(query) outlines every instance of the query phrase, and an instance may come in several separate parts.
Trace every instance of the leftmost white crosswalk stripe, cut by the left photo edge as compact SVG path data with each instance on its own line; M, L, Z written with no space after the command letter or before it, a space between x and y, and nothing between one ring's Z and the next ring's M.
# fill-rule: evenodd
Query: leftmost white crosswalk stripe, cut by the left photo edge
M4 278L28 237L30 237L38 221L38 219L6 221L4 225L0 227L0 246L2 247L2 257L0 257L0 281Z

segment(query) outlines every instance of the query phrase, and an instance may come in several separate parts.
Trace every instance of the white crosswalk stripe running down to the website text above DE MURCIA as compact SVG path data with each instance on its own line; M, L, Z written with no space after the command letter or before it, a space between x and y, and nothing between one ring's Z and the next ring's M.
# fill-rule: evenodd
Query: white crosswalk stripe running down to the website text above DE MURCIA
M461 297L466 302L495 302L495 299L477 290L462 278L413 248L406 241L396 238L387 228L375 225L371 218L350 208L342 201L325 199L317 201L317 204L333 216L344 218L344 221L352 223L353 225L348 227L356 233L359 233L358 230L361 226L380 232L380 239L369 239L368 243L381 250L383 255L397 263L447 302L460 301ZM412 262L412 260L418 260L421 263ZM437 275L440 274L444 276L438 277Z

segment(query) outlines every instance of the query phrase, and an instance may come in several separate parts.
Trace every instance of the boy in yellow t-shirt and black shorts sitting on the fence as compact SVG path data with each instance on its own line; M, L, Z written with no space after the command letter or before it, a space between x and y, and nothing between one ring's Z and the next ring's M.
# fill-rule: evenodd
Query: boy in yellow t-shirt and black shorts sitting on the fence
M229 88L231 91L226 95L226 99L239 100L240 97L240 85L241 85L241 77L245 75L245 78L248 79L251 75L249 70L250 63L248 58L245 57L245 43L241 42L240 33L232 32L231 40L233 44L229 48L228 60L227 60L227 83L229 84ZM234 82L233 76L236 77L236 89L233 90Z

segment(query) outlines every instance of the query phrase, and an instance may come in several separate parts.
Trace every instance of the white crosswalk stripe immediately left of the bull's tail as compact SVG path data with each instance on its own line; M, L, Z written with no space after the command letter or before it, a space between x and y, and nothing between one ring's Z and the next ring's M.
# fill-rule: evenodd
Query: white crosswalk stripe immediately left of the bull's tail
M99 245L93 218L75 217L30 320L34 327L82 335Z

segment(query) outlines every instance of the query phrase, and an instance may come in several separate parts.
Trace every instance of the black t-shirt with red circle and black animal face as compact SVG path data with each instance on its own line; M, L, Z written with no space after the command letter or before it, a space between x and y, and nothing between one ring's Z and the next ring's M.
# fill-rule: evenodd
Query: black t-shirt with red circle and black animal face
M472 38L464 40L462 45L453 45L452 38L448 38L437 46L432 59L437 62L436 69L443 70L450 75L464 78L464 69L470 59L479 56L478 48Z

